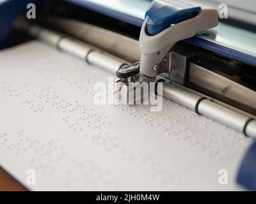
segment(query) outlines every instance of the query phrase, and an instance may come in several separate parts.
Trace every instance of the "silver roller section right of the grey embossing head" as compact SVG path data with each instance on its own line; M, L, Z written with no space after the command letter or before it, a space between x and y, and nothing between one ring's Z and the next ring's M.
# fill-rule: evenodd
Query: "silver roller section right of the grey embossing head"
M246 114L230 110L207 98L199 97L196 94L167 82L163 83L163 97L186 106L187 108L205 115L216 122L220 122L229 128L236 129L236 131L244 133L246 136L256 138L256 120Z

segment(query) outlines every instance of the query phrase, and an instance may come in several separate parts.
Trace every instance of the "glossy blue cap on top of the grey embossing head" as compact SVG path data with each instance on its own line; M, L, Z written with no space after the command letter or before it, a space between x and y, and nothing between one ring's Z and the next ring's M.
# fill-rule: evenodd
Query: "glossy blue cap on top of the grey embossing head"
M158 34L172 24L198 15L200 6L182 0L155 0L145 14L147 31Z

